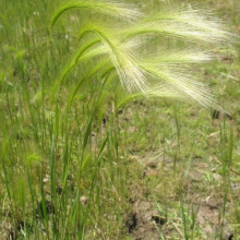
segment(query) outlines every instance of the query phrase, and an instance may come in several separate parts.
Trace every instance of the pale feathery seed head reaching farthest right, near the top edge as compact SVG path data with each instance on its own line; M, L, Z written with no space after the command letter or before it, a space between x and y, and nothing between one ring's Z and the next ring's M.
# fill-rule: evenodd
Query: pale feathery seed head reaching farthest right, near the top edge
M144 17L142 22L127 29L125 34L128 37L158 34L199 44L233 43L237 36L226 28L224 22L209 11L183 8Z

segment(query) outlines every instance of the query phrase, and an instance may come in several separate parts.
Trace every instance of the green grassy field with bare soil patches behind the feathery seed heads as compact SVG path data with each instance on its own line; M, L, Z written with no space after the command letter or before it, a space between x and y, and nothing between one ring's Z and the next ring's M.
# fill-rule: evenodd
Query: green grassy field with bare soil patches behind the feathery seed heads
M72 10L51 29L61 4L0 1L0 239L240 239L239 44L190 67L227 113L132 97L105 62L75 68L77 33L100 16ZM239 0L199 4L239 35Z

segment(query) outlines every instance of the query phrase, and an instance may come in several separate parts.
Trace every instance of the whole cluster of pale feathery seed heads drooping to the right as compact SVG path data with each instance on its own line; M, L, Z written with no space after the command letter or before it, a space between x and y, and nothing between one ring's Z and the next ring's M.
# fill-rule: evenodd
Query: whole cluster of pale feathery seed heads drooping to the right
M137 12L134 9L125 11L123 7L117 10L116 5L109 2L100 1L98 4L109 4L109 12L108 8L101 12L107 16L117 12L118 16L127 13L131 17ZM56 11L51 19L51 27L62 13L72 8L100 12L98 5L93 5L92 1L70 2ZM107 21L100 19L98 22L86 23L79 34L80 50L62 77L74 65L98 57L98 62L108 60L109 68L112 64L122 86L130 93L141 92L164 97L177 95L194 99L202 106L219 109L211 88L197 82L193 73L182 64L209 61L213 55L205 45L229 44L236 40L236 36L226 31L220 20L204 10L179 8L175 11L157 12L154 16L141 13L139 15L143 16L128 25L124 23L125 16L119 20L120 23L115 24L106 24ZM87 35L91 38L87 38ZM160 40L153 45L153 40L158 36ZM173 50L169 50L169 46L167 49L159 49L161 38L179 38L191 45L184 46L183 49L180 44L173 45ZM203 46L203 50L196 50L200 46Z

